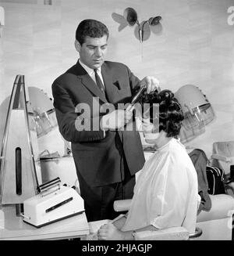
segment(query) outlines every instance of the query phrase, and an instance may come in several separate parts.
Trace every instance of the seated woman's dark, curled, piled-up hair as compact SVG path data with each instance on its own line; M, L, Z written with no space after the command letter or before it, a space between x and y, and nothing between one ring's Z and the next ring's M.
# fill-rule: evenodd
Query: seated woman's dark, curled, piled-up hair
M170 90L163 90L161 92L151 92L150 94L145 94L141 103L149 103L150 108L150 118L153 123L153 104L159 104L159 132L163 130L166 132L167 137L178 138L181 124L183 121L183 111L175 98L174 93Z

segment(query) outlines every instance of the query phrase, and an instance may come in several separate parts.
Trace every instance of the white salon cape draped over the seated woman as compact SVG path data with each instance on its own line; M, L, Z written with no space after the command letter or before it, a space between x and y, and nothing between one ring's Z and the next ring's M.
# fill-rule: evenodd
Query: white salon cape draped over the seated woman
M193 163L179 140L172 138L140 171L122 231L154 225L183 226L194 233L199 198Z

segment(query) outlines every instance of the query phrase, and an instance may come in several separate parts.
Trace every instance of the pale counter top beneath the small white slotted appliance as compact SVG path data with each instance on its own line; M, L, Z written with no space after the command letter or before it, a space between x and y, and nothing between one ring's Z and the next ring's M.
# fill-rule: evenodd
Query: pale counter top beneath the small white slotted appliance
M14 206L0 209L0 240L63 240L81 238L90 233L85 213L36 227L16 216Z

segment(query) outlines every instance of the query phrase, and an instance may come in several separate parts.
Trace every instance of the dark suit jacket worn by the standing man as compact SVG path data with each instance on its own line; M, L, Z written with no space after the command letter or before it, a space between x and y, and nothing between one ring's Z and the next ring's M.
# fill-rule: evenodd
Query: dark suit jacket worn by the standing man
M108 103L126 103L131 99L139 79L122 63L106 61L101 67L105 82ZM76 163L77 175L82 175L90 186L104 186L122 181L120 171L119 144L116 142L115 131L94 131L93 121L99 124L99 110L94 106L94 97L100 98L100 104L107 103L105 96L86 70L77 62L76 65L59 76L52 85L54 106L58 120L58 128L64 139L72 142L73 158ZM92 131L77 131L79 107L77 104L87 103L90 106L90 128ZM83 120L85 121L85 120ZM135 127L133 121L133 128ZM123 152L131 175L144 165L144 153L139 132L119 132ZM66 171L66 170L65 170Z

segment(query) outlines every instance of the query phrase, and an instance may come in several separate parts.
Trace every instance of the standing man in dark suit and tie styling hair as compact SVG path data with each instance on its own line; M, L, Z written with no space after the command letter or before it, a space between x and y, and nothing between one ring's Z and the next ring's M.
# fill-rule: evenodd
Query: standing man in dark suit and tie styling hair
M137 86L147 85L147 92L158 86L154 77L140 81L126 65L105 61L107 46L105 24L83 20L75 41L80 59L52 85L58 128L72 144L89 222L115 218L114 200L133 197L135 173L144 165L133 111L116 106L128 103ZM123 129L129 121L132 131Z

